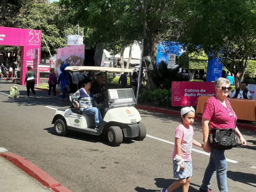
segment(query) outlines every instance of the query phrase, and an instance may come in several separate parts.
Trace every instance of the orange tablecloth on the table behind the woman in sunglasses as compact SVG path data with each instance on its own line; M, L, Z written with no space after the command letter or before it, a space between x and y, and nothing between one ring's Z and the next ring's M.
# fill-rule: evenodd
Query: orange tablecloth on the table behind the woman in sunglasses
M211 96L202 96L197 99L196 113L203 113L204 103ZM255 118L255 109L256 109L256 100L248 99L233 99L228 98L231 107L236 113L237 119L256 121Z

